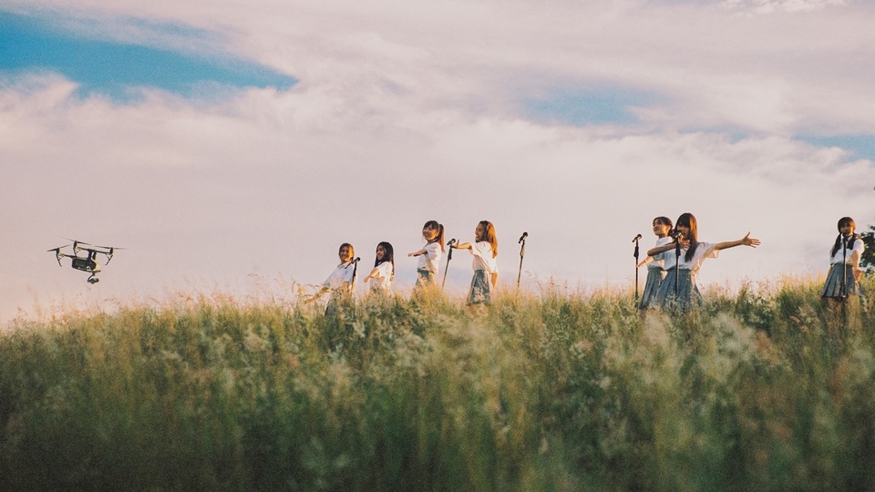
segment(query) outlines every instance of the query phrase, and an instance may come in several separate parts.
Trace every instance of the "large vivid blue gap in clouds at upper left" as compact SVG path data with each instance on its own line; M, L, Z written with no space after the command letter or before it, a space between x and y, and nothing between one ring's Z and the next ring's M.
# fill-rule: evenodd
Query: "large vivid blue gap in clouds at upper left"
M272 68L231 55L194 53L149 43L121 42L82 28L61 26L60 19L0 11L0 73L54 72L80 85L88 96L104 94L127 100L131 87L158 87L184 97L204 97L228 87L276 87L297 82ZM97 22L97 21L94 21ZM211 34L175 25L128 20L144 32L166 33L170 41L190 38L189 45L209 44ZM81 27L81 24L80 24ZM96 27L95 33L100 29ZM151 41L154 44L155 40ZM172 44L172 43L170 43Z

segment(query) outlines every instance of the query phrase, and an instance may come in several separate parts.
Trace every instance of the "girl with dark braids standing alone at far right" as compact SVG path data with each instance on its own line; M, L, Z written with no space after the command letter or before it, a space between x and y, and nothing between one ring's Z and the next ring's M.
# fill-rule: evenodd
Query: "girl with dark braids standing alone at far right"
M864 251L860 234L854 233L857 224L850 217L839 219L839 237L829 251L829 273L820 297L842 301L849 295L860 294L860 257Z

